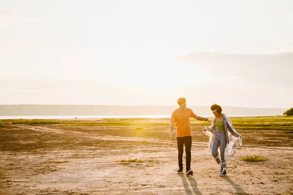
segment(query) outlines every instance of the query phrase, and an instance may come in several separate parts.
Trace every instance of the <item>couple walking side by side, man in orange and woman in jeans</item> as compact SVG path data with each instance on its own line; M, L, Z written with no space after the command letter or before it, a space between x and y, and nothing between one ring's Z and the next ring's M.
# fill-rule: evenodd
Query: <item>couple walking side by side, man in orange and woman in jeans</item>
M199 117L195 115L190 108L186 107L186 98L179 98L177 101L179 108L174 110L170 119L169 132L172 140L175 140L173 135L173 126L176 125L176 141L178 148L178 165L177 173L183 173L183 150L185 146L186 153L186 175L193 175L191 170L191 127L189 118L208 121L210 126L203 129L204 133L209 136L208 152L214 157L220 165L219 176L226 176L226 163L235 154L238 143L242 143L242 137L238 134L231 120L226 115L222 114L221 106L213 104L210 109L214 115L212 122L209 118ZM230 142L230 143L229 143ZM220 146L220 156L218 148ZM221 159L220 159L221 158Z

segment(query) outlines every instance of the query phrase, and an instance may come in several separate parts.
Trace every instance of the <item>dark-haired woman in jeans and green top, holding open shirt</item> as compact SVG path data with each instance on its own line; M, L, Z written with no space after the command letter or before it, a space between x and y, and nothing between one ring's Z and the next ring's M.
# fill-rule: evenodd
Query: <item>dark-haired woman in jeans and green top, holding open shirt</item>
M216 162L220 164L219 176L226 176L226 163L235 154L238 144L242 144L242 136L236 132L230 118L222 114L221 106L213 104L210 110L214 115L212 124L203 129L209 136L208 152L211 152ZM221 159L218 154L219 146Z

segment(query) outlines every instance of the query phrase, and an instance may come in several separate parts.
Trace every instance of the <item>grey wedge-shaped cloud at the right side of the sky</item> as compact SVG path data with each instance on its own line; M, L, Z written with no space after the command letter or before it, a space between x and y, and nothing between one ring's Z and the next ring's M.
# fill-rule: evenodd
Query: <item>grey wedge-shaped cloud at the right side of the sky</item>
M174 60L196 64L212 75L234 76L250 81L293 87L293 53L268 55L212 52L172 56Z

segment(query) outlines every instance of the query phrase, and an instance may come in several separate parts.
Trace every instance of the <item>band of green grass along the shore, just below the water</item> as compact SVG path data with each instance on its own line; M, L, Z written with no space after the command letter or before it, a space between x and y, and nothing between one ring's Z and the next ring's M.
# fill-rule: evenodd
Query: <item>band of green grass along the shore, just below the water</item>
M209 117L212 119L211 117ZM235 129L263 129L263 130L292 130L293 117L275 116L275 117L230 117ZM96 120L86 119L2 119L1 123L26 124L26 125L50 125L62 124L65 126L105 126L105 127L134 127L135 130L144 130L145 127L167 127L168 118L105 118ZM207 121L200 121L194 118L190 119L192 127L208 126Z

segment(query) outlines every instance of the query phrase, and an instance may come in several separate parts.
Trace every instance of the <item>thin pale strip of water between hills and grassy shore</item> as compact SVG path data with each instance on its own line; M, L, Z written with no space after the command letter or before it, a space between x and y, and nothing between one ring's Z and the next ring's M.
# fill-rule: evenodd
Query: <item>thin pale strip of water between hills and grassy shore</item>
M229 115L229 117L264 117L267 115ZM170 118L171 115L80 115L80 116L0 116L0 119L75 119L75 118ZM201 115L201 117L213 117Z

